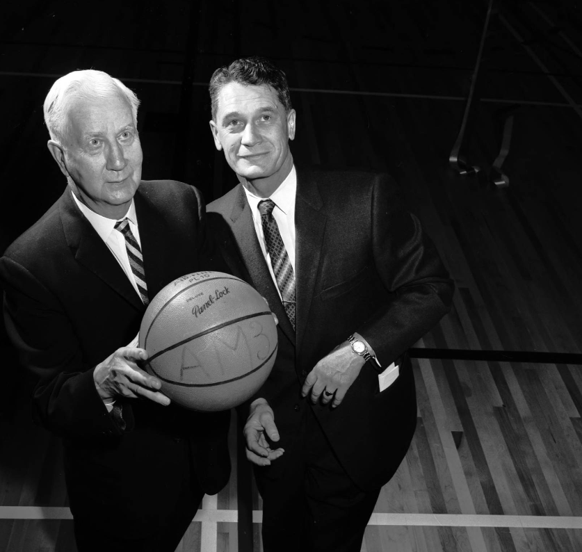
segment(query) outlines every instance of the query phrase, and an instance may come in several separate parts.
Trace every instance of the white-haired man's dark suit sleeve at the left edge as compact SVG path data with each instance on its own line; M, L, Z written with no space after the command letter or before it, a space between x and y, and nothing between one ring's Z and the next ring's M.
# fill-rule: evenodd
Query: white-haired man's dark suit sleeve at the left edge
M21 363L38 376L33 416L62 437L121 435L83 363L74 328L58 300L33 274L9 257L0 259L4 319ZM99 336L95 336L99 339Z

